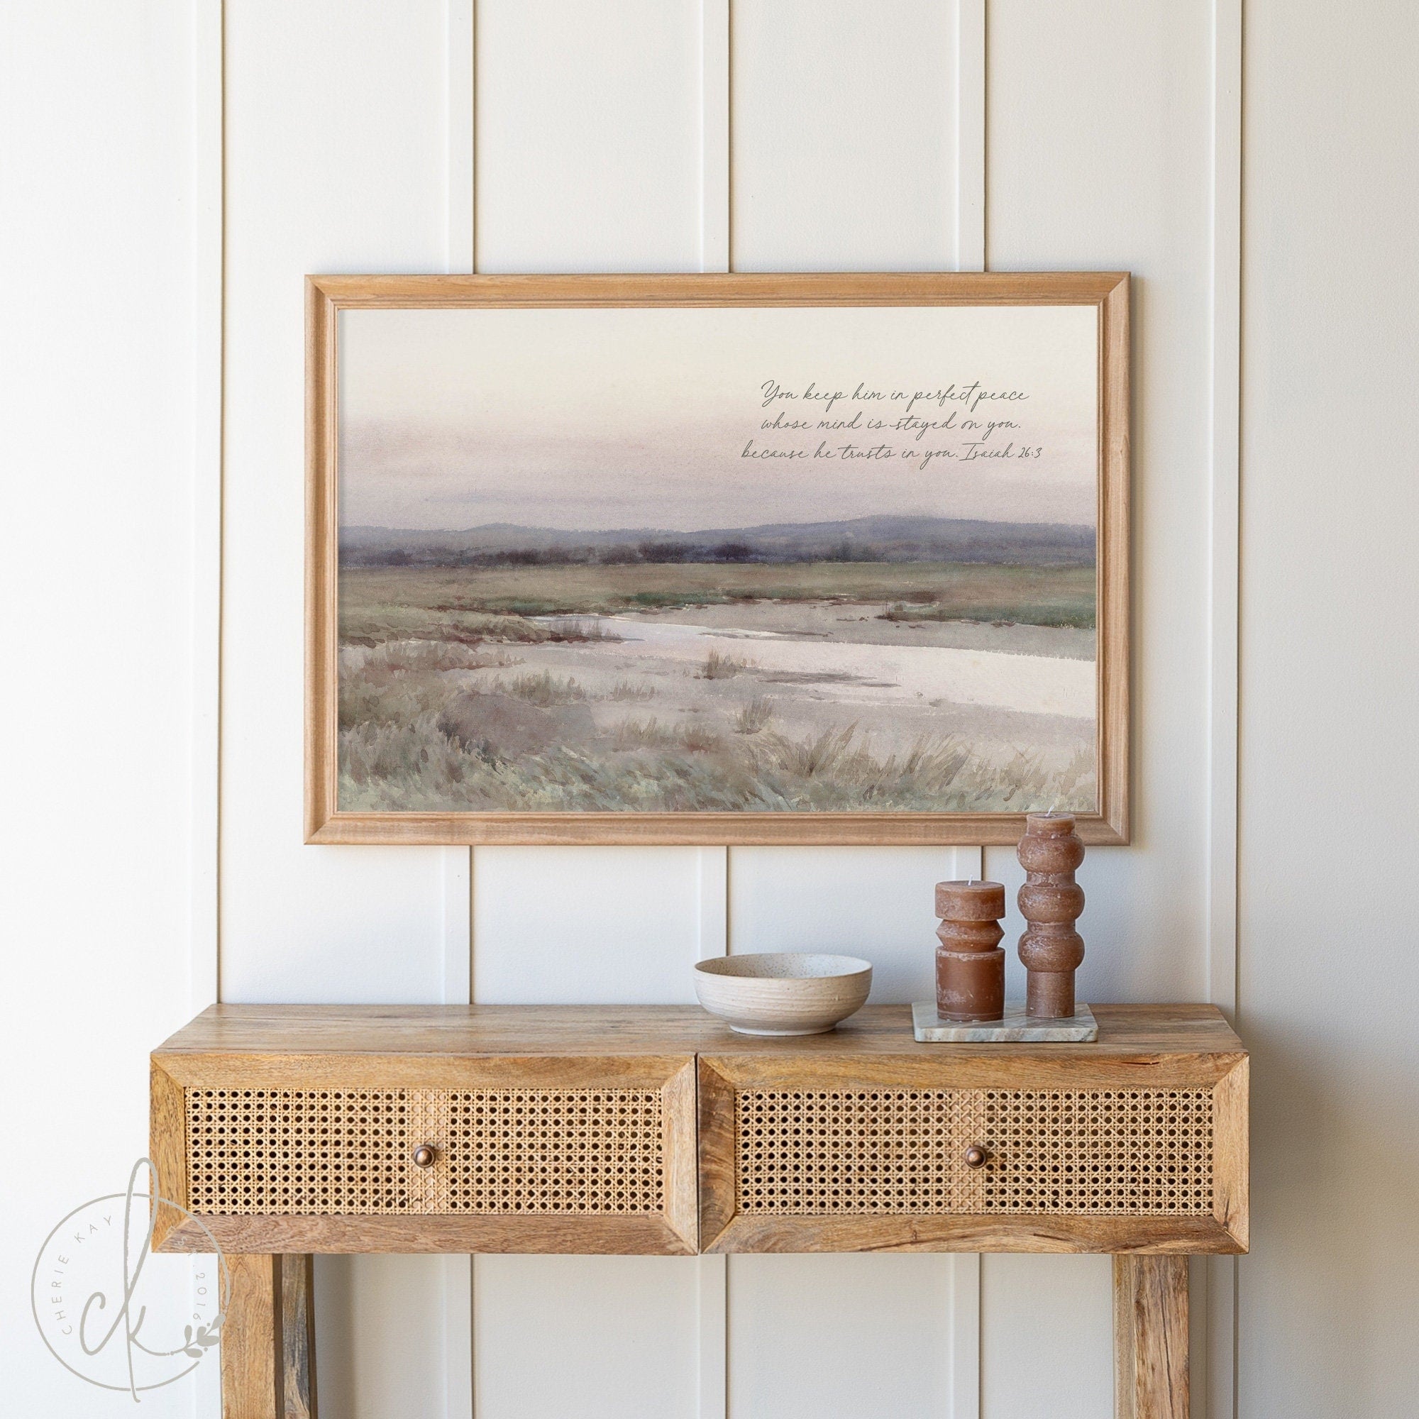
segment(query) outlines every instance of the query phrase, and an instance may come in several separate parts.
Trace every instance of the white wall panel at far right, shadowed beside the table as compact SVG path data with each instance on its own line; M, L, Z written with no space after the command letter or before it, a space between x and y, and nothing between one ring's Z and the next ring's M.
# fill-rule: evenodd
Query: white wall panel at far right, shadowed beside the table
M1330 18L1246 7L1246 1419L1416 1408L1419 9Z

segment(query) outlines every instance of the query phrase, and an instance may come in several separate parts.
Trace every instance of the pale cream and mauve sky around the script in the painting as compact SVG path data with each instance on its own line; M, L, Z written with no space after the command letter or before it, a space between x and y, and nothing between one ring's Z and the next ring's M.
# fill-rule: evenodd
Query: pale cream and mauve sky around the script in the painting
M341 314L341 522L690 532L766 522L928 515L1094 522L1097 315L1093 307L447 309ZM775 400L776 382L799 396ZM1019 390L1027 399L918 402L958 427L895 423L918 390ZM881 400L853 403L858 385ZM809 420L769 431L765 419ZM973 417L981 430L962 430ZM1037 458L968 460L1013 441ZM893 458L746 458L891 446ZM915 457L905 457L911 448ZM927 450L954 450L932 458Z

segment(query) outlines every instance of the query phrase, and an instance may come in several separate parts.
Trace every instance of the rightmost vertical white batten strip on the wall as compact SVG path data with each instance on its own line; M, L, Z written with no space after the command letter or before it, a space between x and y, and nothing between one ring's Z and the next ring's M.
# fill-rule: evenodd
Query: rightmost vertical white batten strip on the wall
M1239 545L1242 421L1242 3L1212 3L1210 526L1208 685L1208 999L1237 1010ZM1202 1271L1205 1344L1193 1393L1208 1419L1236 1413L1235 1257Z

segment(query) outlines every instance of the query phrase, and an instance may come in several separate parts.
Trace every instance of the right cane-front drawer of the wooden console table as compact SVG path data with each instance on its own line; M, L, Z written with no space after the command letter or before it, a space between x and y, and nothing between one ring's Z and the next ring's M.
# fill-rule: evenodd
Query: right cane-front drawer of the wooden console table
M832 1061L790 1077L701 1060L702 1244L990 1250L1029 1233L1059 1250L1237 1250L1236 1069L1159 1087L955 1088L898 1083L922 1071L890 1063L833 1081Z

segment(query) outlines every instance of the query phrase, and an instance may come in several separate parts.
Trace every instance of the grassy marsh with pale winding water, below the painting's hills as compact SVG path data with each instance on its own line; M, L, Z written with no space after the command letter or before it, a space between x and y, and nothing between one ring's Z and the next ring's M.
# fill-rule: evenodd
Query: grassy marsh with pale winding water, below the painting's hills
M339 606L346 812L1094 806L1091 565L396 561Z

